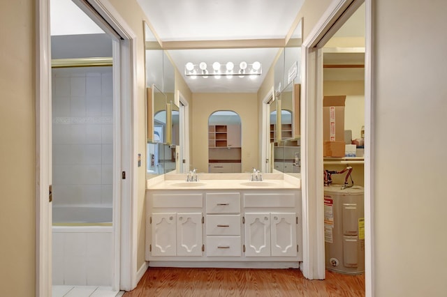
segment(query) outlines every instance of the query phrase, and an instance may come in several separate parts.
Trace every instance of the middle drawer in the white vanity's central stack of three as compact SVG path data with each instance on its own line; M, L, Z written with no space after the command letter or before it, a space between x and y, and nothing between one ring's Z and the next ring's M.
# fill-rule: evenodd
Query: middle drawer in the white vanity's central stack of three
M207 215L207 235L240 235L240 215Z

